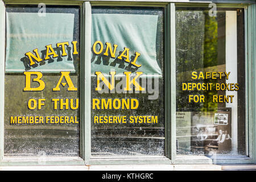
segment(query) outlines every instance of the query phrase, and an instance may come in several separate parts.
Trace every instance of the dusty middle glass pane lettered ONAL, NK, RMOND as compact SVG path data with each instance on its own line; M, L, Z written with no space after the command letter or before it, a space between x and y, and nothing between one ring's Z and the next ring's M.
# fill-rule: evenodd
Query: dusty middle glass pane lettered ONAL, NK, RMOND
M163 13L92 8L92 156L164 155Z

